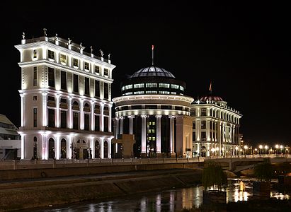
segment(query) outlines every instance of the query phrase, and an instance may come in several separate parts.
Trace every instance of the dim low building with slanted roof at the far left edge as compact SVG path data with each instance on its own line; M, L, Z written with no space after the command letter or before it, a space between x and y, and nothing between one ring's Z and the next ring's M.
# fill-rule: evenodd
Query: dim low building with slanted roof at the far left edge
M21 158L21 136L18 128L0 114L0 160L16 160Z

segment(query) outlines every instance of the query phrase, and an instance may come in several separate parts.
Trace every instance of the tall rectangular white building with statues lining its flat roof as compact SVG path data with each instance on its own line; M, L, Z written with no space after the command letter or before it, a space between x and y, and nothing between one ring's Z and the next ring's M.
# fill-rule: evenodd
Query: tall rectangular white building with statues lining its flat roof
M21 159L110 158L110 59L60 37L21 45ZM109 56L108 56L109 57Z

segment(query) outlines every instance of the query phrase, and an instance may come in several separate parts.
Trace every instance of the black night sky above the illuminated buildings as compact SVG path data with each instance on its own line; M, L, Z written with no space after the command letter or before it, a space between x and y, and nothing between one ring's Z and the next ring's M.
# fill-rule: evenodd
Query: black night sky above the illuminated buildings
M20 125L20 54L14 45L47 35L110 53L113 98L120 81L152 63L186 82L197 99L212 91L239 110L250 143L291 146L290 11L281 1L21 1L1 6L0 113ZM159 2L159 3L158 3ZM287 1L286 1L287 2ZM8 85L5 85L8 83Z

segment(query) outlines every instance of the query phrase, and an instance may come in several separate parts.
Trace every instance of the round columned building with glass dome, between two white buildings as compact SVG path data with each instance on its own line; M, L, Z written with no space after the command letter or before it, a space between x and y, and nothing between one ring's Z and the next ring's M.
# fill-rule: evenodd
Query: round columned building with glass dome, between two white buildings
M142 158L192 155L190 103L186 83L157 66L140 69L120 85L115 104L115 137L135 137L132 156Z

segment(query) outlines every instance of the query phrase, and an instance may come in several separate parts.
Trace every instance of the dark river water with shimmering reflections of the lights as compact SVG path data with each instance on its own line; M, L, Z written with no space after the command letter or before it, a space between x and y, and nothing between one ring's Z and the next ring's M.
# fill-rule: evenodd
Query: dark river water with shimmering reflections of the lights
M248 201L252 195L251 179L232 179L227 187L227 202ZM290 194L272 190L271 197L290 199ZM50 207L35 212L115 212L115 211L182 211L183 208L199 208L202 205L202 187L171 189L165 192L135 194L132 196L110 199L110 201L91 201L67 206ZM31 211L31 210L28 210Z

